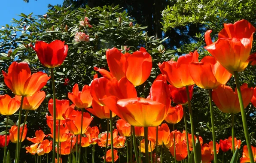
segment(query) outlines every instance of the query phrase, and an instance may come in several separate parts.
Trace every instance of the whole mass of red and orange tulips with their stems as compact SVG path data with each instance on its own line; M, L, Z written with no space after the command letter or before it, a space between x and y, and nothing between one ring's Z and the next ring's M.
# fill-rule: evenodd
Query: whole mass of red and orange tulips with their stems
M255 54L250 55L255 30L255 27L246 20L237 21L235 24L224 24L218 40L214 43L210 38L211 30L208 30L205 33L207 44L205 49L212 56L206 56L199 62L199 54L194 51L180 56L177 61L159 63L162 74L155 78L149 96L145 98L138 97L139 93L135 88L142 85L151 73L152 58L145 48L141 47L133 54L123 54L117 48L108 49L106 57L110 71L94 67L102 77L98 78L98 74L95 74L91 84L84 85L82 91L79 91L79 85L75 84L73 91L68 93L69 100L57 100L54 68L61 66L67 57L68 46L60 40L49 44L37 41L35 46L31 45L31 47L34 48L43 66L50 69L51 77L44 72L31 75L29 65L25 62L13 62L9 66L8 73L3 72L6 86L15 94L13 98L9 95L0 96L0 114L6 115L6 135L0 137L0 145L5 148L3 161L6 162L6 147L10 140L16 143L15 163L19 163L21 142L24 141L27 133L28 112L36 110L43 102L46 94L40 90L51 78L53 98L48 103L50 115L46 116L51 134L45 135L42 130L38 130L35 133L36 137L27 138L34 143L26 147L27 152L38 155L37 161L35 156L36 162L39 156L44 154L47 154L48 162L48 153L53 151L52 160L56 163L62 162L61 155L69 155L70 161L75 157L76 162L80 163L81 147L86 149L90 145L93 148L92 162L94 162L94 146L98 144L105 148L105 155L101 156L104 162L114 163L118 160L116 149L126 145L127 162L133 161L133 150L137 163L141 162L142 157L146 163L149 163L149 160L151 163L157 162L157 149L160 147L161 161L163 161L164 149L168 162L171 162L170 151L175 163L190 157L195 163L201 161L209 163L212 160L217 163L219 148L223 152L231 149L233 155L240 148L241 140L235 138L234 114L241 112L247 145L243 147L244 152L240 161L254 163L256 148L250 145L244 109L250 102L256 105L256 91L254 91L256 88L248 88L246 83L240 86L238 72L246 69L249 63L252 65L256 63ZM235 91L226 85L232 75L237 86ZM190 102L194 85L209 90L213 141L208 144L203 144L203 139L194 133ZM177 105L171 106L171 101ZM212 101L222 112L232 115L232 136L220 140L219 143L215 138ZM188 133L186 123L186 105L189 109L191 134ZM26 111L24 123L21 124L24 110ZM19 111L18 124L12 126L7 135L9 116L17 111ZM107 119L107 132L100 134L98 127L90 127L93 121L92 115ZM116 123L116 129L113 127L115 116L120 118ZM174 124L182 119L185 121L186 130L180 132L175 130ZM172 124L173 131L170 131L168 124L162 124L163 121ZM128 142L127 137L131 137L131 142ZM139 140L138 146L137 140ZM198 155L198 147L201 151L200 155ZM152 154L154 149L155 154ZM76 152L76 156L73 156L72 152Z

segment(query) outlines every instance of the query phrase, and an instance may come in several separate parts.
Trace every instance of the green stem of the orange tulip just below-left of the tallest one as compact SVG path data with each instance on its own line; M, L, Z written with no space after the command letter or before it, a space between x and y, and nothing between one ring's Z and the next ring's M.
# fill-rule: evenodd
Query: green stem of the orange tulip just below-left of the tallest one
M212 90L209 89L209 104L210 104L210 119L212 124L213 133L213 152L214 152L214 163L218 162L217 150L216 150L216 138L215 138L215 126L214 126L214 116L213 116L213 101L212 101Z

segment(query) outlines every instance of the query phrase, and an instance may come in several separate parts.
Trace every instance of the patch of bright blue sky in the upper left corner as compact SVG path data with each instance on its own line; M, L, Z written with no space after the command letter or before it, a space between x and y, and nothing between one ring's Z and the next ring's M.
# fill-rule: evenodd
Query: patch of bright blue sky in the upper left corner
M25 3L23 0L0 0L0 26L11 24L12 18L19 18L17 14L24 13L26 15L33 12L33 15L44 15L48 8L48 4L62 4L63 0L30 0ZM33 16L32 15L32 16Z

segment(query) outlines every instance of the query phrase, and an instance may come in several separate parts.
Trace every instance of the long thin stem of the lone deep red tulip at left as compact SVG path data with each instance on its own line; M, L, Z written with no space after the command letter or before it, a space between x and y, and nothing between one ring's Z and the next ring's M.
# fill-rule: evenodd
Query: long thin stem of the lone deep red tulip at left
M55 91L53 68L50 68L50 69L51 69L52 95L53 95L53 142L52 142L52 146L55 148L55 143L56 143L56 100L55 100L56 99L56 91ZM52 150L52 162L54 160L55 160L55 150Z

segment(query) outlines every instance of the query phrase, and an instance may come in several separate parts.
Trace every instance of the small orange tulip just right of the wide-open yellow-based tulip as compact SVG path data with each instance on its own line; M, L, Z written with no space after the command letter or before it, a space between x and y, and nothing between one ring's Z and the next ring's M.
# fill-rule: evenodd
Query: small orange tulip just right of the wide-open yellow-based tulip
M169 124L177 124L183 118L183 107L182 105L177 105L175 107L170 106L168 113L165 117L165 121Z

